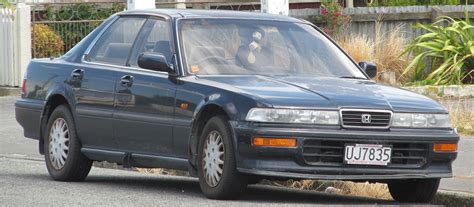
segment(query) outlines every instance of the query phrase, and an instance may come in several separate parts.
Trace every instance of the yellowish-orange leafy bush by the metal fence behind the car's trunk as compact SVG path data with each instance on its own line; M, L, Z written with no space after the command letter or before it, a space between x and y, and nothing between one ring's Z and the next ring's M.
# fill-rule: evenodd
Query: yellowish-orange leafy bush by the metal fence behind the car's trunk
M35 24L32 27L33 48L36 57L59 56L63 50L63 40L47 25Z

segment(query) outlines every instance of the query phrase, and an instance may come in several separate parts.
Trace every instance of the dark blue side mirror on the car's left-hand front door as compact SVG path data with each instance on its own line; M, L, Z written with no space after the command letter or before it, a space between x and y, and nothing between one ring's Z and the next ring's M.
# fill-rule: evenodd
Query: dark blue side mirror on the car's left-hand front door
M142 53L138 56L138 66L144 69L174 73L174 69L168 65L166 57L157 53Z

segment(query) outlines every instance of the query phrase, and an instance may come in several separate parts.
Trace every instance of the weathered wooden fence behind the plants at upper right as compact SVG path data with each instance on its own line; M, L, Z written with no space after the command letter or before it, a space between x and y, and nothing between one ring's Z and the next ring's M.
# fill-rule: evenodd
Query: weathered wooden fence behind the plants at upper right
M349 34L363 34L374 39L376 23L381 24L382 34L401 27L402 35L411 40L424 33L420 28L414 28L418 23L429 24L439 16L464 18L464 11L469 11L469 17L474 18L474 5L461 6L406 6L406 7L358 7L346 8L343 14L351 16L351 24L347 29ZM316 24L322 24L319 9L290 10L290 16L304 18Z

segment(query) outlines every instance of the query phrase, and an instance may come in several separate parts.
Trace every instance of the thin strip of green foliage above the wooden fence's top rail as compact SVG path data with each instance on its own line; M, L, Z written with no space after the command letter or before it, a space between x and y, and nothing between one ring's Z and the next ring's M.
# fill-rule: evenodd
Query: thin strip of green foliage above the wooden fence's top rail
M368 0L369 6L460 5L461 0Z

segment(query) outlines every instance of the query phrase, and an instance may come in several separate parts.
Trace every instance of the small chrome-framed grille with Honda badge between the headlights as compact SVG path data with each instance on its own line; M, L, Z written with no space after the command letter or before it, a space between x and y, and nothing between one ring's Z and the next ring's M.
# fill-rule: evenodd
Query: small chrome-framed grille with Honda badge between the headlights
M342 126L349 128L388 128L390 111L341 110Z

